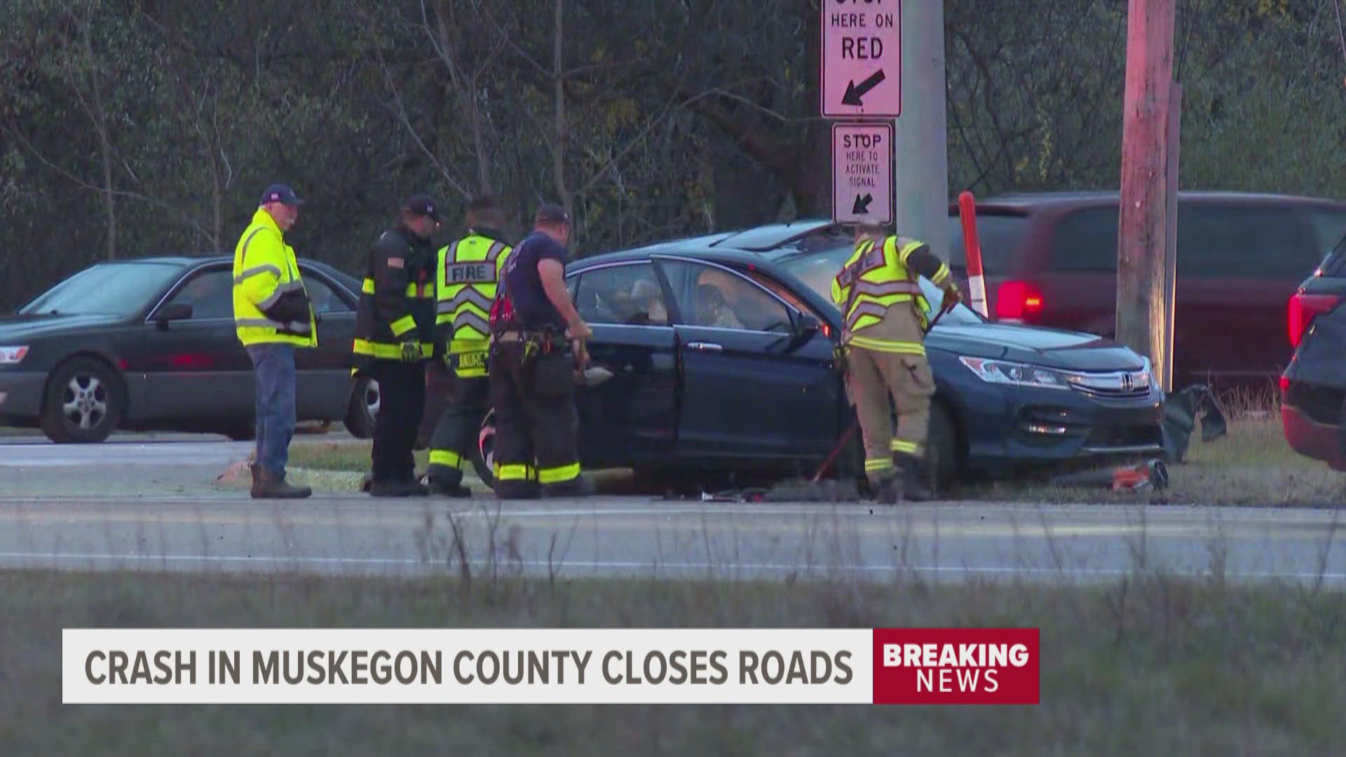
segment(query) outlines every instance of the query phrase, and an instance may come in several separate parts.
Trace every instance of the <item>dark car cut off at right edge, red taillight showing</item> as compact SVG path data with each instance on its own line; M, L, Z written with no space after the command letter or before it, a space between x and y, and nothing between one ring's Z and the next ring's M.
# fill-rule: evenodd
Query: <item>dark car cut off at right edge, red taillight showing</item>
M1346 238L1289 298L1295 357L1280 378L1285 440L1346 470Z

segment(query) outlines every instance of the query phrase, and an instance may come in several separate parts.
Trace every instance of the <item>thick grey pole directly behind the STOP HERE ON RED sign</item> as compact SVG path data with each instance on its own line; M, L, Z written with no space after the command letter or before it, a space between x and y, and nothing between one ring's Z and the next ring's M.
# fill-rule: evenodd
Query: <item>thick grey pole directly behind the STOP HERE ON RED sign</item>
M949 260L944 0L902 3L902 117L894 120L895 226Z

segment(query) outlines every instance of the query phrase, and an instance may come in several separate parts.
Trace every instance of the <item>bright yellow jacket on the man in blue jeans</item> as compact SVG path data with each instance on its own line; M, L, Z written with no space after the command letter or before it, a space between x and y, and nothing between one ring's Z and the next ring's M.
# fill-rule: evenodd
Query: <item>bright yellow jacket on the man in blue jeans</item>
M285 244L276 220L258 207L234 248L234 331L248 345L281 342L318 346L312 308L307 322L281 323L262 312L289 291L306 291L295 249Z

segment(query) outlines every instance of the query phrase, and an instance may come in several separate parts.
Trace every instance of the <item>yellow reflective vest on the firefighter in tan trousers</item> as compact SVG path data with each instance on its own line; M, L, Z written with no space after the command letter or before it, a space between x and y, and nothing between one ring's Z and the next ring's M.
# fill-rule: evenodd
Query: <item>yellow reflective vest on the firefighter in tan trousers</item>
M925 345L921 342L882 339L863 333L887 318L890 308L898 304L910 307L911 311L903 315L914 315L925 331L929 303L921 294L917 276L907 267L907 257L923 244L907 237L887 237L882 246L875 245L871 238L856 244L855 252L832 280L832 302L841 308L851 346L925 354ZM941 264L931 280L938 284L948 276L948 264Z

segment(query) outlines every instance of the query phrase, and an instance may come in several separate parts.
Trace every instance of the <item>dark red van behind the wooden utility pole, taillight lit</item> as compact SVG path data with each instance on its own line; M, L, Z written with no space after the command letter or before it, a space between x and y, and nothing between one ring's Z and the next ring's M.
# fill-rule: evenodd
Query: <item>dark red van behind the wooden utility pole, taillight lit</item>
M991 318L1113 337L1117 206L1117 193L977 202ZM965 282L957 205L949 229ZM1275 381L1291 357L1285 304L1343 234L1342 202L1179 191L1174 387Z

